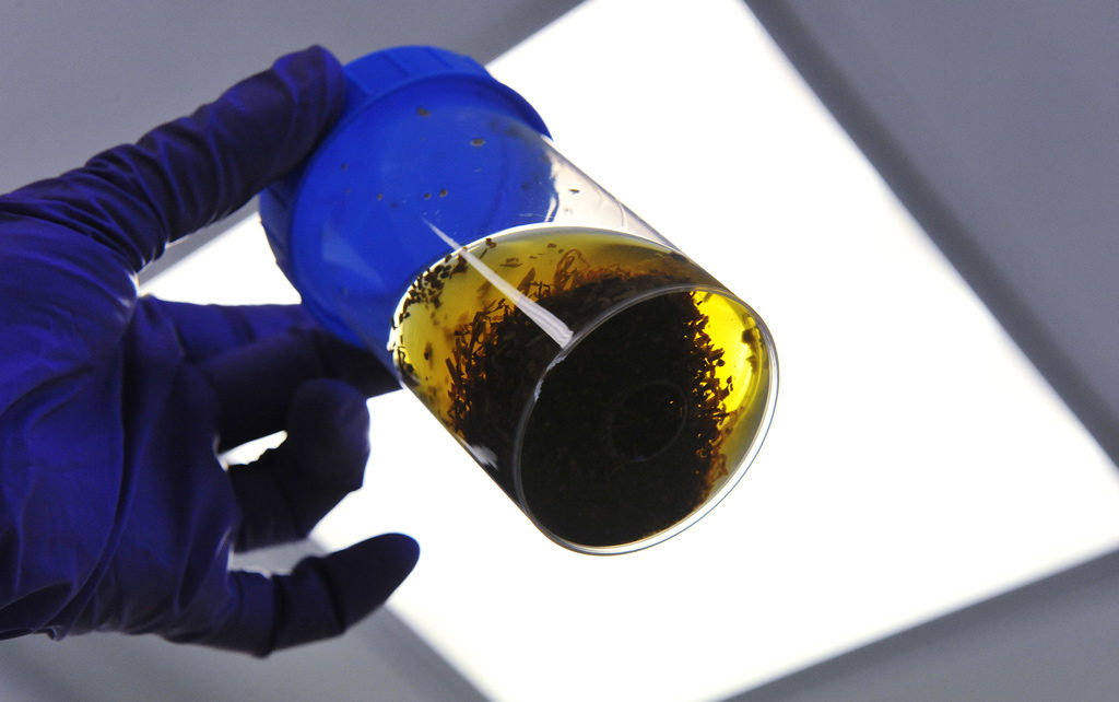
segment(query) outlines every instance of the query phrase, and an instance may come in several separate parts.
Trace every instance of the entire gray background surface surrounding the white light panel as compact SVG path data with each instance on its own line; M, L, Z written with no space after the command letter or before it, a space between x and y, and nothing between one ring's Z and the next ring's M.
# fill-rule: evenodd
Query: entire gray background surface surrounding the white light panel
M485 62L573 4L15 0L0 7L0 189L132 140L291 49L318 43L345 60L416 41ZM1119 456L1119 6L750 4L933 241ZM271 552L262 564L295 558ZM741 699L1113 699L1117 612L1112 554ZM478 696L387 611L342 639L265 662L152 637L0 643L3 699Z

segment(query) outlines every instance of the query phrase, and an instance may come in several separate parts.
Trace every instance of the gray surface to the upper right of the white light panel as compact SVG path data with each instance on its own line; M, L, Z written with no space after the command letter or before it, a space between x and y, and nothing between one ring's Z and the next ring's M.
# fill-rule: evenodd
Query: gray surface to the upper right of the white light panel
M1117 461L1119 3L747 4Z

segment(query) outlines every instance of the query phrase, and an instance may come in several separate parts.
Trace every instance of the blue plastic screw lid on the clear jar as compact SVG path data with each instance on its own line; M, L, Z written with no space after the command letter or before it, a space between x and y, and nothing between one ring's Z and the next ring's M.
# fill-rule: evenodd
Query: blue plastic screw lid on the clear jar
M430 262L436 252L421 249L417 243L421 237L403 222L403 206L393 215L397 218L386 219L378 214L379 218L372 222L369 207L363 209L351 203L378 199L384 194L386 202L382 205L388 205L389 189L420 190L438 174L462 186L455 189L460 197L444 198L442 203L449 218L464 223L507 216L492 208L501 199L497 190L508 184L471 179L462 170L463 158L439 157L432 149L417 149L414 143L403 146L415 139L432 146L442 138L416 137L420 132L413 124L420 122L415 120L414 105L433 104L463 114L498 115L533 133L548 135L548 131L524 97L473 59L446 49L429 46L386 49L348 64L345 73L346 104L336 127L301 169L261 194L260 210L276 263L299 290L308 310L340 338L373 346L369 335L360 333L364 329L352 328L357 324L355 313L366 313L354 311L358 305L352 299L355 292L367 292L369 299L385 298L387 290L399 293L396 288L407 282L403 279L414 274L415 266ZM394 141L386 142L387 139ZM529 159L517 148L477 149L471 157L488 159L495 172L529 168ZM354 197L345 202L344 195ZM370 228L384 237L376 245L391 255L354 252L354 246L374 245L357 241L366 235L363 230ZM386 246L392 251L385 252ZM414 250L408 251L410 246ZM399 261L382 261L393 256ZM374 258L377 261L370 264ZM339 263L341 259L347 262ZM363 290L355 291L359 288ZM377 313L382 312L378 307ZM360 326L373 322L363 321Z

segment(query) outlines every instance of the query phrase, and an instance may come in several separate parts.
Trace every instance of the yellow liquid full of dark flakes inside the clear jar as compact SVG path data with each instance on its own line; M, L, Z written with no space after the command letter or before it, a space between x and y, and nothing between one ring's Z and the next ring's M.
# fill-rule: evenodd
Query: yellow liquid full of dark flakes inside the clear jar
M678 252L612 232L533 228L468 250L473 262L451 254L413 284L391 350L545 533L592 550L637 542L732 478L775 383L747 307ZM525 298L570 340L518 309Z

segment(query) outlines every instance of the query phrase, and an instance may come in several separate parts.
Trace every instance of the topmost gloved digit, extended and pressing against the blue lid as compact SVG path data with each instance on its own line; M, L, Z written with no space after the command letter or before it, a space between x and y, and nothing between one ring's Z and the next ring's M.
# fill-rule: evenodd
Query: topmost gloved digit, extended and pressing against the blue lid
M109 245L138 272L167 243L231 214L307 157L345 94L328 52L290 54L135 144L9 194L4 209Z

